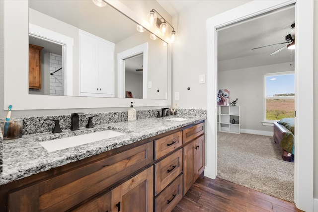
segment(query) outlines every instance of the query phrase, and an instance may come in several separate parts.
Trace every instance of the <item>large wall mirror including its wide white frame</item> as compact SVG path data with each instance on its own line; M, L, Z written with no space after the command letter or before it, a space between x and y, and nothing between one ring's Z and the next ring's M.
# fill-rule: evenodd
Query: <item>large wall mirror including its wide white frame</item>
M145 14L142 14L136 13L121 1L105 1L107 2L105 7L97 7L93 4L92 0L12 0L2 2L4 8L2 14L3 42L5 43L3 48L3 109L5 111L10 104L14 110L22 110L21 114L24 116L35 114L39 109L48 110L43 111L42 114L60 114L60 110L67 112L65 109L127 108L131 105L131 101L135 102L135 107L171 105L171 45L166 47L163 46L164 43L162 43L160 39L149 39L149 31L154 32L158 37L160 37L160 35L156 32L155 28L147 26L147 23L144 22L149 7L153 8L154 6L156 8L159 4L156 4L156 1L154 1L151 2L150 5L148 3L146 5L143 0L140 0L137 9L139 11L145 11ZM57 7L56 4L46 4L52 2L69 4L61 7ZM40 5L40 3L42 5ZM109 4L112 5L113 8ZM80 14L82 16L76 16L74 12L81 7L84 7L84 10ZM49 11L41 11L41 8ZM121 13L116 10L121 11ZM88 20L91 20L90 12L94 13L93 16L98 17L93 23L87 23ZM112 15L109 17L99 16L101 13L112 13ZM66 19L59 19L63 16L65 16L64 18L70 18L70 20L73 19L74 22L67 23ZM77 21L78 19L80 19L80 21ZM113 25L106 27L107 20L110 20L110 23ZM130 26L127 25L128 22L130 22ZM142 33L137 32L136 23L142 23L149 31ZM80 24L84 24L87 28ZM95 27L96 25L99 25L99 27ZM116 29L123 29L124 31L115 35L113 32L116 31ZM103 34L107 34L110 37L103 37ZM85 37L85 35L88 36ZM125 35L126 37L124 37ZM87 39L83 39L83 45L79 47L81 36ZM93 39L90 40L89 38ZM165 37L161 38L165 41L168 40L168 38ZM115 39L118 39L118 41ZM59 62L56 62L55 65L52 64L52 67L57 72L53 73L54 71L52 70L53 72L42 73L41 89L31 88L32 90L30 90L29 41L37 42L39 40L43 43L34 43L34 45L43 48L37 49L36 51L38 52L35 51L35 53L39 54L39 52L41 52L42 56L42 54L50 54L47 52L52 51L51 58L54 56L54 59ZM96 44L96 42L99 41L101 43L98 46L108 45L108 47L105 47L103 50L114 48L114 58L104 57L103 55L107 55L109 52L102 51L101 53L96 53L98 49L94 49L94 45L88 45L89 43ZM48 44L51 44L57 50L53 50L53 47L48 47ZM73 48L70 48L71 46L73 46ZM52 48L52 50L46 51L46 48ZM79 48L86 48L86 50L88 50L83 51L82 54L79 55ZM131 55L129 55L130 52ZM62 57L60 57L61 55ZM118 55L120 55L119 59ZM161 57L162 55L164 55L164 57ZM79 60L80 57L82 57L83 60ZM86 60L84 60L85 57ZM102 60L97 60L96 63L87 62L92 60L92 58L98 59L99 57L101 57ZM46 58L45 60L50 59L47 55L43 56L43 58ZM72 60L69 60L70 58L72 58ZM134 62L134 59L138 61L142 59L142 67L140 62ZM80 72L80 69L83 69L80 67L80 63L83 63L83 67L86 66L86 68L88 67L88 70L90 70L91 66L106 66L105 64L108 64L108 60L111 60L111 64L114 66L114 71L110 71L113 75L107 74L105 77L97 77L96 80L96 78L92 77L94 74L89 74L89 71ZM131 60L133 61L131 62ZM132 82L133 80L136 80L136 84L141 83L140 76L136 76L132 79L133 77L129 74L126 75L126 62L127 66L129 66L129 64L139 63L137 68L132 69L135 70L133 72L140 74L140 70L143 69L143 87L138 86L138 91L133 90L135 88L137 89L137 86L129 87L130 85L126 85L126 82ZM46 62L43 63L43 66L50 67ZM63 69L59 70L60 68L64 68L67 71ZM50 68L48 69L50 71ZM120 71L118 72L118 70ZM61 75L59 73L60 71L62 71ZM53 76L50 73L53 73ZM57 77L59 75L61 78ZM147 77L145 75L147 75ZM62 95L50 95L52 91L43 88L46 82L43 81L42 83L42 80L50 81L51 76L60 79L61 88L55 90L62 90L59 93ZM99 86L99 84L98 87L95 87L93 90L95 92L97 88L98 90L100 88L101 92L93 93L89 90L89 85L86 86L86 90L81 92L80 83L82 80L84 84L85 78L89 78L89 80L87 80L88 83L94 85L99 83L98 79L107 81L107 83L101 83L100 85L105 86L105 89L111 92L102 93L104 89L102 86ZM66 83L64 83L64 80ZM118 81L121 82L120 85L117 83ZM127 98L126 86L129 89L127 91L131 91L132 93L132 95L128 95ZM118 90L120 90L120 92ZM58 92L56 92L56 94L57 93ZM108 98L105 98L105 96ZM133 97L133 99L131 99L131 97ZM23 110L33 111L27 112ZM98 109L98 111L100 110L101 109Z

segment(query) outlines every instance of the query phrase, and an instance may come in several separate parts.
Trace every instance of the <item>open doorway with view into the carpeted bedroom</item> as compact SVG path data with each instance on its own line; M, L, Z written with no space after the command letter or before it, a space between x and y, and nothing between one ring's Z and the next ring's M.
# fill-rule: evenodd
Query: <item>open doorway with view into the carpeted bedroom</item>
M280 149L273 141L273 121L269 121L284 117L279 114L276 118L266 118L266 112L271 115L283 109L284 114L288 111L294 117L295 103L291 102L291 107L287 108L288 105L275 100L272 105L280 108L271 109L269 104L264 104L264 98L287 94L293 96L276 98L295 98L295 86L286 84L294 85L294 78L282 81L276 74L287 76L285 74L295 70L294 50L287 49L292 41L285 41L285 36L293 34L291 25L294 23L295 5L292 4L217 30L218 91L229 91L228 103L236 100L239 107L231 106L230 114L238 114L232 112L235 109L240 111L239 116L231 116L236 119L234 124L224 124L226 120L220 121L220 118L225 115L218 115L218 177L290 202L294 201L294 162L286 164L283 161ZM281 51L276 52L278 49ZM276 53L271 54L273 52ZM265 95L264 89L270 85L264 81L267 74L275 74L270 82L276 84ZM228 107L218 108L226 113L223 109ZM235 134L239 132L240 135Z

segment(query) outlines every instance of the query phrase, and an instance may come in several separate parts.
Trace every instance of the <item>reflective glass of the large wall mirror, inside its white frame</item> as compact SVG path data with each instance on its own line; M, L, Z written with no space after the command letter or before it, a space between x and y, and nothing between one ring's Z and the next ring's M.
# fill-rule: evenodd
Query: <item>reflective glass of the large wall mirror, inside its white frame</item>
M43 47L42 86L29 94L167 99L168 47L136 26L109 4L29 0L29 43Z

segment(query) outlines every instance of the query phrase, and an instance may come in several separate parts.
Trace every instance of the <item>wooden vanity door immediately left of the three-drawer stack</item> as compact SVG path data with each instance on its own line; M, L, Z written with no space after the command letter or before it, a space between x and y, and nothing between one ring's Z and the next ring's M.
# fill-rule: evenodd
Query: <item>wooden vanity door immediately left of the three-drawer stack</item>
M111 191L112 212L154 211L154 167L132 177Z

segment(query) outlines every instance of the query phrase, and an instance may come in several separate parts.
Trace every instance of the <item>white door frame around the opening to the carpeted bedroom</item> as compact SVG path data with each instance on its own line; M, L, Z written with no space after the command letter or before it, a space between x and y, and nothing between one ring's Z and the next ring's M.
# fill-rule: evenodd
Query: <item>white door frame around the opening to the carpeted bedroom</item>
M296 3L295 25L295 204L303 211L313 211L313 0L251 1L207 19L207 166L205 175L217 176L217 28ZM312 80L308 80L312 79ZM302 95L298 95L302 94ZM306 102L300 104L300 102ZM300 139L302 140L300 145Z

